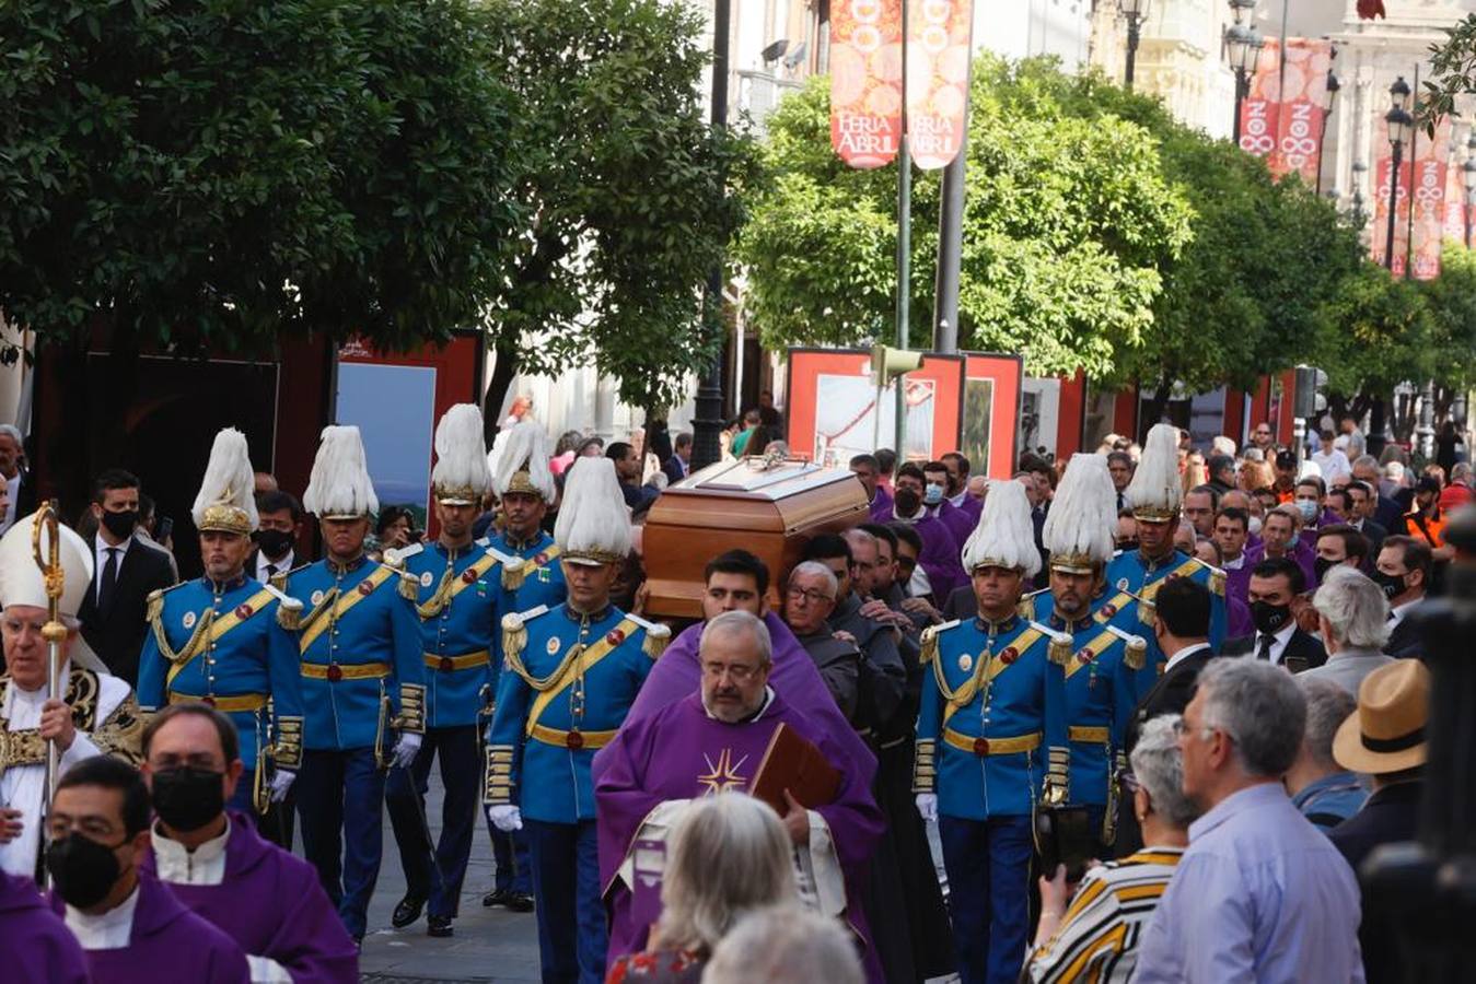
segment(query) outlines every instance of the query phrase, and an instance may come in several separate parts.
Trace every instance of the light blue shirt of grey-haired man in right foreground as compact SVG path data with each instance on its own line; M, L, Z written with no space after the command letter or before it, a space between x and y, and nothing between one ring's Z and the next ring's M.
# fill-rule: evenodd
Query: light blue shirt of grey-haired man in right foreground
M1190 825L1132 980L1361 983L1358 919L1348 862L1280 783L1261 783Z

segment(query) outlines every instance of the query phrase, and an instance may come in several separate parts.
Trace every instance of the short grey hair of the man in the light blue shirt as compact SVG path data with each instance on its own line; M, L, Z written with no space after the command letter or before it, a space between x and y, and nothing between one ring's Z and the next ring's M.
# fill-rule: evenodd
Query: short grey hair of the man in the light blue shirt
M1204 726L1230 735L1247 773L1275 777L1292 767L1306 727L1306 698L1290 673L1262 659L1210 659L1199 689Z

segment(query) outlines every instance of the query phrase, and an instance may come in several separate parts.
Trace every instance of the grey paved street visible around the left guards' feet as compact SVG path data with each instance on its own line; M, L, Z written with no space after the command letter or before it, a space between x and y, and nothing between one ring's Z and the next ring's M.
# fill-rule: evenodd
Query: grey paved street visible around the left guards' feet
M441 788L435 770L427 801L431 832L440 836ZM301 848L300 848L301 850ZM419 981L508 981L539 980L537 926L533 913L517 915L506 909L483 909L481 897L492 888L492 842L486 823L472 838L471 866L462 885L461 916L456 935L432 940L425 935L425 916L406 929L390 928L390 913L404 894L404 873L390 829L384 819L384 865L369 906L369 934L359 960L360 977L375 984L415 984Z

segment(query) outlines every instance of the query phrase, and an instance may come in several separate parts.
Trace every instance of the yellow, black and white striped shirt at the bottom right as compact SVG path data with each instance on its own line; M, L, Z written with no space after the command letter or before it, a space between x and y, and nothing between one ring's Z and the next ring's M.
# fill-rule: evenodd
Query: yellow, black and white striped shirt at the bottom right
M1138 938L1182 854L1178 847L1145 847L1089 870L1055 935L1030 956L1029 980L1106 984L1132 977Z

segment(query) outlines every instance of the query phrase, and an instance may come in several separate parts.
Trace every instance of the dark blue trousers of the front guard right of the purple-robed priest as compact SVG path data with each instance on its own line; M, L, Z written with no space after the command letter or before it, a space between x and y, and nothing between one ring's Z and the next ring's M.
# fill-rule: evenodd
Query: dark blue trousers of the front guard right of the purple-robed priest
M1030 932L1030 817L937 820L962 984L1014 984Z

